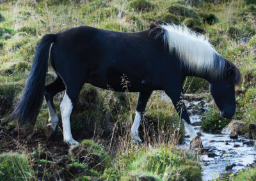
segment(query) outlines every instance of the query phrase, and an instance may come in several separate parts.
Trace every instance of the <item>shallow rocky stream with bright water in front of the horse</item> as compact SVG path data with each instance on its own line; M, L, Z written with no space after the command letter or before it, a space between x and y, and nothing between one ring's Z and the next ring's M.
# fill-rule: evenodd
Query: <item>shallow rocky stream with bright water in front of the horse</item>
M166 99L166 95L161 95L162 99ZM198 115L198 109L209 110L209 103L202 101L186 101L189 117L192 125L199 125L201 115ZM189 109L196 106L196 110ZM210 151L206 154L200 154L200 163L202 164L202 180L214 180L221 174L236 174L239 170L254 166L256 152L253 146L254 140L238 136L238 139L230 139L229 134L221 133L205 133L200 126L193 126L196 132L202 133L201 139L204 148ZM188 135L187 131L185 133ZM184 143L180 148L189 149L191 139L186 136ZM226 170L226 168L229 168Z

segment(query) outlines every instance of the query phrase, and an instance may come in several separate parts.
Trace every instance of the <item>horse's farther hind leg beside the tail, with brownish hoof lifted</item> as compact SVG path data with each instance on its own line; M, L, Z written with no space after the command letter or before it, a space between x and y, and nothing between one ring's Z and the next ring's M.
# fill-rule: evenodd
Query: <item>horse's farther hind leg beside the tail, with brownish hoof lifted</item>
M56 126L58 124L58 115L56 114L54 104L53 104L53 97L58 93L65 90L65 85L61 80L60 76L57 76L54 82L50 83L49 85L45 86L45 101L47 103L48 111L49 111L49 124L45 127L45 136L49 138L52 133L54 133Z

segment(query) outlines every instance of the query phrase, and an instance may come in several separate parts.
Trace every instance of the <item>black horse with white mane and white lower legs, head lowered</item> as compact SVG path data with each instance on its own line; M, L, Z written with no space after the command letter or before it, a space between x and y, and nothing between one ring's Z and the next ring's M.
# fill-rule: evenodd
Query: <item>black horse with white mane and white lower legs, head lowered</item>
M57 76L45 86L48 59ZM239 69L218 54L204 35L174 24L153 24L137 33L80 26L46 34L40 40L24 91L9 119L18 120L19 125L35 122L45 98L49 110L45 130L51 136L59 120L53 97L65 90L60 105L63 140L77 145L70 131L70 114L84 83L124 92L123 75L129 78L129 92L139 92L131 127L134 141L141 141L138 127L155 90L166 92L189 136L196 137L182 102L182 83L186 76L207 80L221 117L231 118L236 111L234 87L241 79Z

